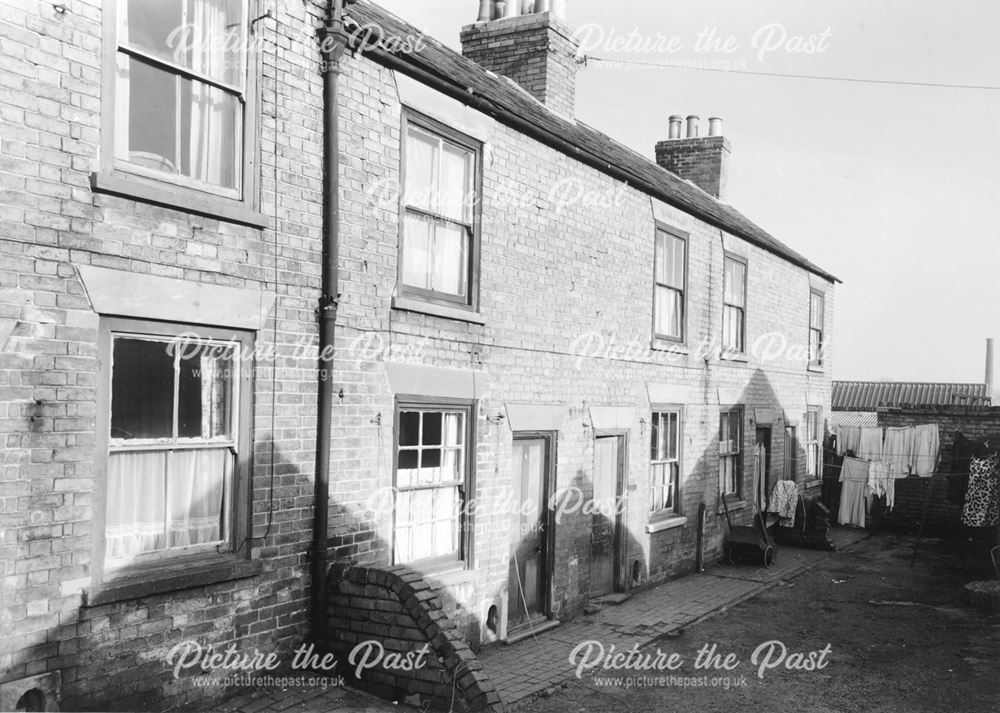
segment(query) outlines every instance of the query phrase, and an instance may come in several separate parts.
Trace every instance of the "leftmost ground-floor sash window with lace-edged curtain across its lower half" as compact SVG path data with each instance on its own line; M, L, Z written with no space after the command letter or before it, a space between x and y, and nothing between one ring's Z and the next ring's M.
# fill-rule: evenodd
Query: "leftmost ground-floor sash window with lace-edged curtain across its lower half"
M102 329L104 566L218 552L233 541L248 333L134 320Z

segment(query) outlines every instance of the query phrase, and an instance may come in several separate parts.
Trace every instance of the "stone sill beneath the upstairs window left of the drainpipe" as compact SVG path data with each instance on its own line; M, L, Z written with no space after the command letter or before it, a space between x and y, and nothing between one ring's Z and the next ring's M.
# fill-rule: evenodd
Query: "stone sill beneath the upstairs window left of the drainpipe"
M94 193L130 198L252 228L266 228L270 225L270 218L251 210L242 201L213 196L184 186L172 186L141 176L105 171L91 173L90 189Z

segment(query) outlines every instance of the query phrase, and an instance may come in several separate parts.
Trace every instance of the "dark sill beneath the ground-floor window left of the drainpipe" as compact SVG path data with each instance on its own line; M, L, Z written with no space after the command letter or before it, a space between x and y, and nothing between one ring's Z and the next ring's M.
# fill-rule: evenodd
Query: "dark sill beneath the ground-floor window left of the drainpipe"
M128 576L88 587L83 592L84 607L96 607L112 602L140 599L154 594L165 594L183 589L204 587L219 582L256 577L264 571L262 560L233 560L205 558L198 562L185 560L184 564L130 573Z

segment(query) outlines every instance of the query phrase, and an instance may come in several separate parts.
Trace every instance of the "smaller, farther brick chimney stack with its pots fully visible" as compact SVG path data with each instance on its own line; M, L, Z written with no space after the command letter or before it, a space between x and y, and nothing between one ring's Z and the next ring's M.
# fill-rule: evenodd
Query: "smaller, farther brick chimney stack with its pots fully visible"
M725 200L732 146L722 135L722 119L714 116L709 119L708 136L699 138L700 121L694 115L687 117L687 135L682 137L684 117L671 116L669 138L656 144L656 162L706 193Z

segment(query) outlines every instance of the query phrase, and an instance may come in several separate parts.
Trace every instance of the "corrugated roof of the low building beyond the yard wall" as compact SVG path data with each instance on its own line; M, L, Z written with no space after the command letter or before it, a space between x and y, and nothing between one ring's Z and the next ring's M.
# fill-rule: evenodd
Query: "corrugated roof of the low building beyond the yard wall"
M834 411L876 411L902 406L989 406L986 384L916 381L834 381Z

